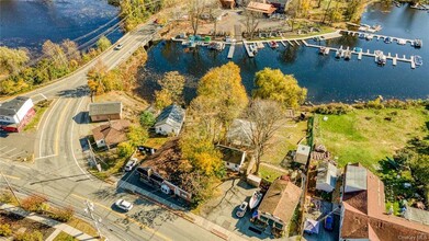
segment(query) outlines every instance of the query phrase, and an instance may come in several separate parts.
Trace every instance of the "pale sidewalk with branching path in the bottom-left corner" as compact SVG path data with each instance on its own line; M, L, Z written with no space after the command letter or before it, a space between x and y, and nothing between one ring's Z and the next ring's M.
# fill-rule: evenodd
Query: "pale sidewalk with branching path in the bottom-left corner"
M56 230L46 239L47 241L54 240L55 237L57 237L61 231L68 233L69 236L75 237L78 240L98 240L97 238L88 236L87 233L83 233L80 230L75 229L71 226L56 221L50 218L42 217L42 216L34 214L34 213L26 211L20 207L13 206L13 205L0 203L0 210L7 210L7 211L13 213L15 215L29 218L33 221L42 222L44 225L47 225L47 226L55 228Z

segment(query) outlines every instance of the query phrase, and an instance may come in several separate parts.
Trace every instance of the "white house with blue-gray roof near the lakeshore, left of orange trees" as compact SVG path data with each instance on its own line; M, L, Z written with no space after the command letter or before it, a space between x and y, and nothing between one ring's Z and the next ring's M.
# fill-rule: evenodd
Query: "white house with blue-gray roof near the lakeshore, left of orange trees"
M170 105L162 110L155 124L155 131L160 135L179 135L184 123L184 110L179 105Z

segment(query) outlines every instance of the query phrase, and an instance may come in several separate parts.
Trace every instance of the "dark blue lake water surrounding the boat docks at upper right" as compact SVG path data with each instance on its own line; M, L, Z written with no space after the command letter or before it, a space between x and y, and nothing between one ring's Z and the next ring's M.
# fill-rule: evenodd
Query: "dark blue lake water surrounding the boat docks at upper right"
M383 10L383 11L382 11ZM300 85L308 89L308 100L314 103L353 102L354 100L371 100L377 95L397 99L426 99L429 96L429 14L426 11L413 10L408 5L402 8L382 9L380 4L369 7L362 15L362 23L381 24L379 34L403 38L421 38L424 47L416 49L409 44L405 46L384 44L375 38L371 42L358 37L345 36L327 43L328 46L362 47L364 50L381 49L385 54L420 55L424 65L411 69L410 64L398 61L392 66L379 67L373 58L363 57L358 60L353 55L350 61L330 56L319 56L315 48L304 46L282 45L273 50L261 49L255 58L248 58L242 46L236 47L233 61L241 69L242 82L251 93L253 76L257 71L270 67L279 68L284 73L294 74ZM315 44L313 41L308 43ZM200 47L196 53L185 53L180 44L165 42L149 50L149 58L139 80L140 93L150 97L157 89L156 79L166 71L177 70L191 79L185 89L185 99L190 101L195 95L196 81L210 68L222 66L227 59L228 47L224 51L211 51Z

